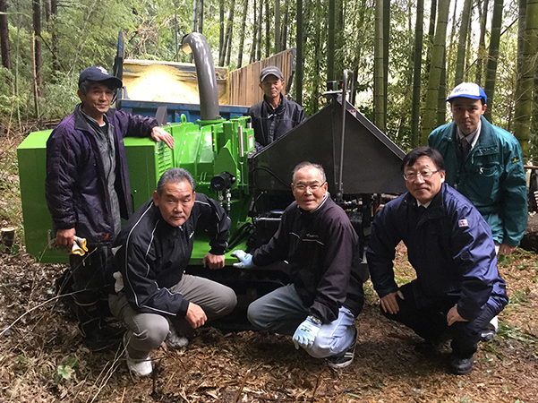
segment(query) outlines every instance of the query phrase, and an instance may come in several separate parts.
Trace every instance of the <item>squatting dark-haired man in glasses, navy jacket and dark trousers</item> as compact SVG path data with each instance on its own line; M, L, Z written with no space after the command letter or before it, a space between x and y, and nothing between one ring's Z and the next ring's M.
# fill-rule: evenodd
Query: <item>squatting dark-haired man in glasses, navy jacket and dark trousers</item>
M470 373L482 329L508 304L491 229L470 201L444 183L439 151L410 151L402 171L408 193L373 220L366 253L371 281L382 313L423 338L423 352L437 354L452 339L449 371ZM400 241L416 279L398 287L392 261Z

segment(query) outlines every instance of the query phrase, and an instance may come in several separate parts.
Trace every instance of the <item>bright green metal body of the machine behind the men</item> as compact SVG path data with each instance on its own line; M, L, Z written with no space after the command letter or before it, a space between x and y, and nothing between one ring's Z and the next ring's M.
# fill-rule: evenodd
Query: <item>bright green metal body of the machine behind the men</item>
M239 150L239 127L243 129L243 157ZM200 128L198 124L173 124L163 127L175 139L174 150L164 142L148 138L124 139L129 166L133 210L138 209L157 187L158 178L171 167L183 167L192 173L197 192L218 199L210 187L213 176L227 171L237 177L232 186L230 218L232 233L247 219L251 197L248 193L247 153L254 149L253 130L246 128L246 118L218 121ZM22 141L17 153L19 159L22 214L25 244L28 253L40 262L68 262L59 251L47 249L47 234L52 233L52 220L45 200L47 139L52 131L30 133ZM197 237L198 239L198 237ZM192 254L193 264L209 251L207 240L197 241ZM200 261L200 262L198 262Z

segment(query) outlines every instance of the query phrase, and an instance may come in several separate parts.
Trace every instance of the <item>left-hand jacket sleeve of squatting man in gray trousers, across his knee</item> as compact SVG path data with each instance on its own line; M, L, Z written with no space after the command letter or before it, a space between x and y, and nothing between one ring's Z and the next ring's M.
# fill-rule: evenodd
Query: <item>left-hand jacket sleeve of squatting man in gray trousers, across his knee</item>
M159 287L155 257L151 248L136 242L127 242L117 253L122 253L119 262L124 277L124 293L127 301L141 313L182 315L187 313L189 301L180 293L167 287Z

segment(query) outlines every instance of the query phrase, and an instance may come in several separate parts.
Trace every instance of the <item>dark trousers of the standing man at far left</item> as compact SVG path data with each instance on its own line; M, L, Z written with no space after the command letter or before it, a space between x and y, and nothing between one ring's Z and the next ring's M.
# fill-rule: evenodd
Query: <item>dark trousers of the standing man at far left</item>
M73 279L73 301L82 335L88 337L102 327L108 310L108 287L112 253L108 246L99 246L83 256L69 257ZM109 278L110 277L110 278Z

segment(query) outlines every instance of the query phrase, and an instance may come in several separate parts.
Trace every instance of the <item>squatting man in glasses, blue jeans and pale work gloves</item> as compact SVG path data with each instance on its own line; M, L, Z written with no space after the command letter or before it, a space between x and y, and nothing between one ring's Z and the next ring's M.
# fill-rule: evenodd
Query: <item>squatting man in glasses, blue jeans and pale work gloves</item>
M277 234L252 254L233 253L240 269L286 262L293 280L250 304L248 319L257 329L293 336L296 348L327 358L329 367L345 368L354 358L354 319L363 308L358 236L331 200L322 167L297 165L291 187L295 201Z

